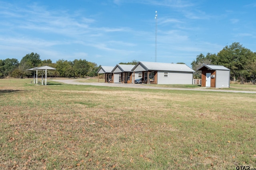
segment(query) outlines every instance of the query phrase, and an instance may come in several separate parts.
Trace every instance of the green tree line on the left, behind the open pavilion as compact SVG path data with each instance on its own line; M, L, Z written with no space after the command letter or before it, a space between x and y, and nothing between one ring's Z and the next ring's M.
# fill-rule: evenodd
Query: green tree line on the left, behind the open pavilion
M96 63L85 59L75 59L74 61L60 59L56 63L52 63L50 59L41 60L39 54L32 52L25 55L20 62L17 59L9 58L0 60L0 77L31 77L33 72L28 69L45 65L56 68L56 70L47 71L47 76L49 77L92 77L96 76L99 68Z

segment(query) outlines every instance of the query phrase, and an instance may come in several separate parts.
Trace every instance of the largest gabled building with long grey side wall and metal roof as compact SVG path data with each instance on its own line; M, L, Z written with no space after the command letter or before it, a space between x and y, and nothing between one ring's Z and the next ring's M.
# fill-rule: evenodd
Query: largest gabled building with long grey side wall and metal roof
M147 84L193 84L195 72L186 64L138 62L134 72L141 72L144 83Z

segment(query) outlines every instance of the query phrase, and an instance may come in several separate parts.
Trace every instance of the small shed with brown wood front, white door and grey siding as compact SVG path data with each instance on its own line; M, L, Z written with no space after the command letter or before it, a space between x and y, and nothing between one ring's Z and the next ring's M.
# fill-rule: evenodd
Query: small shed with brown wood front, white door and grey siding
M230 87L230 69L221 65L203 64L198 70L202 71L202 87Z

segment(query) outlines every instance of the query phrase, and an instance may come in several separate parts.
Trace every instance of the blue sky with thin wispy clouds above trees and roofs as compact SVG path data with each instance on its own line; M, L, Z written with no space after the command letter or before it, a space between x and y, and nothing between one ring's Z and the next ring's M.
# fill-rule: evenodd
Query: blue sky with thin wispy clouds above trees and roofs
M0 0L0 59L183 62L239 42L256 52L254 0Z

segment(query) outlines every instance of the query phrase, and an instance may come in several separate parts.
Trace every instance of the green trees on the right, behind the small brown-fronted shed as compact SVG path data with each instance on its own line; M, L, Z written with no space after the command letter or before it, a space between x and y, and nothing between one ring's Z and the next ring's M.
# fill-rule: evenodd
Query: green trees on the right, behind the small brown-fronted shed
M202 53L196 57L191 65L197 70L203 64L223 65L230 69L230 80L241 83L256 82L256 52L243 47L240 43L234 42L226 45L218 54ZM201 72L196 71L194 78L201 78Z

